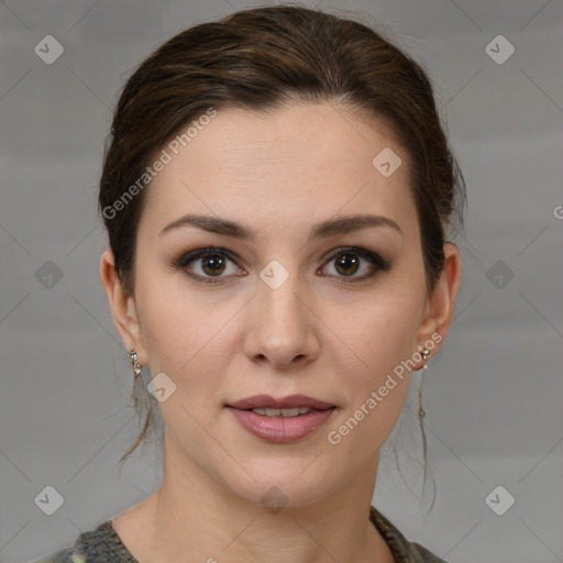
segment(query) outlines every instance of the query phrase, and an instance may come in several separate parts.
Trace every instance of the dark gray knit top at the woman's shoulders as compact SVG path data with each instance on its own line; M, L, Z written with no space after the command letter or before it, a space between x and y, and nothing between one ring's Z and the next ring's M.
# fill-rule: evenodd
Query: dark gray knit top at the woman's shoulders
M446 563L405 536L375 507L369 508L369 520L387 542L395 563ZM111 520L96 530L78 536L74 547L67 548L34 563L139 563L115 532Z

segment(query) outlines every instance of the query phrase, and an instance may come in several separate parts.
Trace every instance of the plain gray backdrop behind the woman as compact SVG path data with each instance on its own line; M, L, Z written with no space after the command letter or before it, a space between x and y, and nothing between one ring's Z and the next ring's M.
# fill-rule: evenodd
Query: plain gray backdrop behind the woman
M159 484L150 450L118 474L137 427L126 408L130 364L98 275L102 146L123 80L154 47L254 5L0 2L2 562L70 545ZM410 540L451 562L563 561L561 2L319 7L385 22L423 63L468 190L455 320L424 383L437 503L428 511L431 489L421 496L411 387L406 423L393 435L401 434L396 446L412 492L389 454L374 504ZM34 53L48 34L65 49L52 65ZM499 34L516 49L504 64L485 48ZM494 48L507 53L506 45ZM59 280L44 277L42 266L53 269L47 261ZM47 485L64 497L53 516L34 503ZM485 501L498 485L516 499L503 516Z

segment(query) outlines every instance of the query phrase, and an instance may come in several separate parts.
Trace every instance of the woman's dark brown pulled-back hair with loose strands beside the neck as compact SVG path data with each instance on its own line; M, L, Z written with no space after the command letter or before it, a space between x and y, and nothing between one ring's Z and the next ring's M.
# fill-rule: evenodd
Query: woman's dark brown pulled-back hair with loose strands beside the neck
M405 148L426 284L429 290L435 286L446 230L463 229L465 183L426 71L375 26L285 4L239 11L181 31L126 81L106 144L99 190L99 211L125 291L134 292L136 230L145 201L145 190L131 188L139 187L155 155L210 108L267 112L309 102L367 115ZM125 201L128 187L134 197ZM156 401L142 377L136 379L135 407L142 393L147 411L121 463L148 438L155 421Z

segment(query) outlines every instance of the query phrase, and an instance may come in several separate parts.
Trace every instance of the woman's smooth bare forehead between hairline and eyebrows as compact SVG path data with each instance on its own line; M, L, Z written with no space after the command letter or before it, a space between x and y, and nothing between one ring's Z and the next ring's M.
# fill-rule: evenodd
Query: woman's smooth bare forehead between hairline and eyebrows
M329 103L267 114L222 109L176 145L164 147L170 161L145 194L146 214L161 228L190 211L244 214L263 227L284 216L314 221L339 210L371 210L402 222L416 216L408 156L394 135ZM386 177L374 158L389 150L401 164Z

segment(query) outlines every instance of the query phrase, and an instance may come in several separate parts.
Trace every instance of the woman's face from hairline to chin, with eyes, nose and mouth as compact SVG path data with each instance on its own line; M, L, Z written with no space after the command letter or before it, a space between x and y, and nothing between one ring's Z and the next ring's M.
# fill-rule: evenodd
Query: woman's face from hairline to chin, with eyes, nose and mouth
M387 177L372 164L385 147L402 161ZM449 297L433 305L426 287L407 154L325 103L221 110L170 154L146 188L121 327L176 386L159 404L169 457L253 503L276 486L309 504L375 475L408 388L401 362L420 368L451 316L451 292L439 284ZM256 395L331 408L233 408Z

